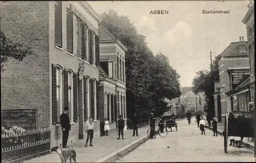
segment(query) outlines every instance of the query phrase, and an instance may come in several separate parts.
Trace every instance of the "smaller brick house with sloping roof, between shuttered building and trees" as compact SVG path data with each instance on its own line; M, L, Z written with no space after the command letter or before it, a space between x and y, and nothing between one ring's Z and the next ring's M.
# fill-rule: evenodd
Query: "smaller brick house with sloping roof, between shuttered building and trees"
M110 121L111 131L115 131L119 115L123 115L126 129L126 86L125 86L125 46L102 25L99 26L100 39L100 120Z

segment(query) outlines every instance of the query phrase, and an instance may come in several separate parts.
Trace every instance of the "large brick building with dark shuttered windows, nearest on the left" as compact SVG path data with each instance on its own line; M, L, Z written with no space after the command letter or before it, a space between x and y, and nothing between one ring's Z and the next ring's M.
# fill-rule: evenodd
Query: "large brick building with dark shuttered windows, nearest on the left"
M65 106L70 108L68 145L83 138L90 116L95 121L95 136L99 135L100 22L84 1L1 2L1 31L34 52L23 62L5 64L1 110L33 110L33 128L51 127L51 147L61 146L59 118ZM30 126L15 120L13 124ZM8 120L5 123L10 125Z

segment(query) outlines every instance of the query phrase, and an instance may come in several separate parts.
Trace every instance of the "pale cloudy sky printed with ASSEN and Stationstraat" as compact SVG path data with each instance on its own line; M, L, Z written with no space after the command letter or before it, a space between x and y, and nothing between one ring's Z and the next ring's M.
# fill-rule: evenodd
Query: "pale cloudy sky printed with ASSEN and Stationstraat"
M196 72L209 70L212 58L230 42L247 40L242 20L248 1L88 1L98 13L115 10L128 16L138 33L146 36L148 48L162 52L177 70L181 86L191 86ZM168 14L150 14L168 10ZM202 10L229 11L229 14L202 14Z

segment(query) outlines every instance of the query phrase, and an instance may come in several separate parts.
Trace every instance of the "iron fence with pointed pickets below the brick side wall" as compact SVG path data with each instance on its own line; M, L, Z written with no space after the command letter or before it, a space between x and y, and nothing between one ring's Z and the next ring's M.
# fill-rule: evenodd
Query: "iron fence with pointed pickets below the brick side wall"
M23 162L50 150L50 128L2 133L2 162Z

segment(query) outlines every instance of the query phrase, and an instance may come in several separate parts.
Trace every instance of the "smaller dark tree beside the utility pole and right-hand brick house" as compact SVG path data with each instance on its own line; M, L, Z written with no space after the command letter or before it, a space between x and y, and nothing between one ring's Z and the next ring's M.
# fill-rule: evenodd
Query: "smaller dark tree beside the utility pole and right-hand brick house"
M205 107L210 113L211 117L215 116L214 107L214 91L215 85L214 81L219 80L219 69L217 58L212 62L212 74L211 71L201 70L196 73L196 77L193 79L193 92L197 94L198 92L205 93ZM212 75L212 77L211 77Z

